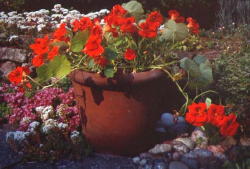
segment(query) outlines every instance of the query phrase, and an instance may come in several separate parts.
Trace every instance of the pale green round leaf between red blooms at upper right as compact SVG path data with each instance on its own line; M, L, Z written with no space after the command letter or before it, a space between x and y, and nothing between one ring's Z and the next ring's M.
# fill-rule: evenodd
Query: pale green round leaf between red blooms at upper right
M168 20L165 23L165 29L160 36L160 40L181 41L188 36L188 28L184 23L176 23L174 20Z

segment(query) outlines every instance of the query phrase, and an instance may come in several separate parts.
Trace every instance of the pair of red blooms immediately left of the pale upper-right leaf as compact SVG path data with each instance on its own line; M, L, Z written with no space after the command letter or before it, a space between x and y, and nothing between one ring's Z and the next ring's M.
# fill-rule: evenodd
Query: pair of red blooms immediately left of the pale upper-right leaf
M157 36L157 30L163 21L162 15L157 12L151 12L145 22L139 25L139 35L145 38L154 38Z

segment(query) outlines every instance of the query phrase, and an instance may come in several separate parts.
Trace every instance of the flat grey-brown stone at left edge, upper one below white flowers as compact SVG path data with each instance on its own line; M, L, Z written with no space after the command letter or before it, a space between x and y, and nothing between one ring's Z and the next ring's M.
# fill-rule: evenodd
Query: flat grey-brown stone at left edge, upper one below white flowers
M0 48L0 61L14 61L24 63L27 60L26 50L2 47Z

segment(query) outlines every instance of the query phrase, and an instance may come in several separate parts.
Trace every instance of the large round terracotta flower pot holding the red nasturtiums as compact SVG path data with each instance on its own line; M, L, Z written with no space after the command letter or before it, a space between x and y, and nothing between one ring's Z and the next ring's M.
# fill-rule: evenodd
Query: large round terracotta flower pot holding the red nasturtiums
M83 133L97 152L135 155L157 141L160 114L177 107L178 90L160 70L108 79L76 70L70 75Z

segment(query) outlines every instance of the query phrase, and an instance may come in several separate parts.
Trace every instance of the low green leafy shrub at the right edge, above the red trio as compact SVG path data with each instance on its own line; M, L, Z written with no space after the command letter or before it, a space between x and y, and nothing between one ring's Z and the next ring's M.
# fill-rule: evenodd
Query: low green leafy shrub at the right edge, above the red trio
M224 54L216 60L216 88L233 110L250 108L250 46L238 54Z

